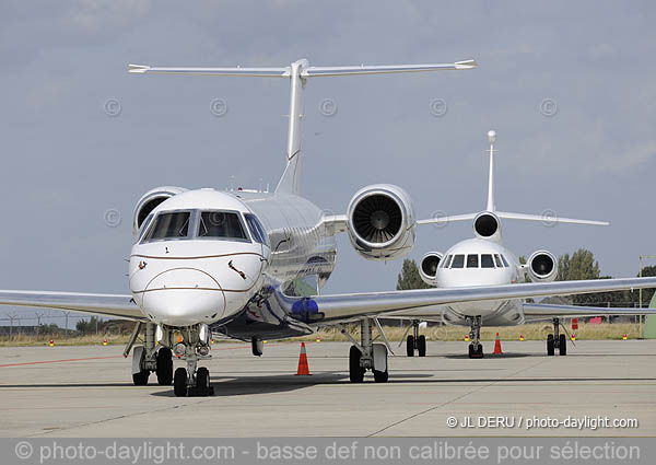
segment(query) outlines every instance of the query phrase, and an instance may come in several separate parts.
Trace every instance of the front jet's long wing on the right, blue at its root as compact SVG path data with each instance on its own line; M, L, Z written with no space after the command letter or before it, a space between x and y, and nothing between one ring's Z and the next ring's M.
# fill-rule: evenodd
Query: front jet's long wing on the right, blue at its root
M602 291L656 288L656 278L591 279L582 281L529 282L470 288L420 289L411 291L292 298L280 295L291 313L314 313L318 324L340 323L364 316L402 310L431 309L438 305L489 300L571 295ZM644 312L644 311L643 311Z

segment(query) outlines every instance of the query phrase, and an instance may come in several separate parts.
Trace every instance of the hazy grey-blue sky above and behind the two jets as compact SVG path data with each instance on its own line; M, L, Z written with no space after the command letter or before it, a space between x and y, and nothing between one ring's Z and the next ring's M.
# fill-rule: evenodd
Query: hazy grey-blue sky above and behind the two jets
M261 188L282 174L288 81L136 75L128 63L300 58L479 63L311 80L303 195L319 207L344 212L361 187L390 183L418 218L482 210L494 129L500 210L611 222L506 220L505 245L586 247L604 275L635 276L639 256L656 254L655 13L648 1L3 0L0 289L127 293L143 193ZM471 225L417 233L415 259L470 237ZM365 260L347 236L338 246L325 293L395 288L401 260Z

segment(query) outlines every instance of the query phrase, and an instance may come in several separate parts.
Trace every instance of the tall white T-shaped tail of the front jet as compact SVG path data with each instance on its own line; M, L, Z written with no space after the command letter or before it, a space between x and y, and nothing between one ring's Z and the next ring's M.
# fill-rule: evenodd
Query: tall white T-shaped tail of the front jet
M465 70L477 68L473 60L442 65L383 65L383 66L345 66L345 67L311 67L306 59L294 61L284 68L157 68L143 65L130 65L131 73L155 74L200 74L200 75L239 75L256 78L289 78L290 85L290 125L288 133L286 159L277 193L298 194L301 190L301 118L303 118L303 91L308 78L388 74L397 72L422 72L442 70Z

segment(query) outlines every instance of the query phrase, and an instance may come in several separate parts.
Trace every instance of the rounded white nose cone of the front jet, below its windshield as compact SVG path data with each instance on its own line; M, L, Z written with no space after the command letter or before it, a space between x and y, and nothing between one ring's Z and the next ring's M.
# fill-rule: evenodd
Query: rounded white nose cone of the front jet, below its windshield
M157 323L188 326L221 318L225 312L225 298L209 274L176 268L149 282L143 294L143 310Z

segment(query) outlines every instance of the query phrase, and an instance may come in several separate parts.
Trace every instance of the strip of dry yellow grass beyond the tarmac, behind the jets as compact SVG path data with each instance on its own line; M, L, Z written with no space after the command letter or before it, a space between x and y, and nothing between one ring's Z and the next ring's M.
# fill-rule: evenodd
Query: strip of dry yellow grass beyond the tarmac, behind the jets
M386 326L384 327L385 335L389 340L399 341L406 332L407 326ZM572 334L572 330L566 326L567 332ZM360 338L360 325L350 325L350 334ZM482 340L494 340L496 333L502 340L519 340L519 335L524 335L525 340L544 340L549 333L553 332L553 326L548 323L534 323L530 325L512 326L512 327L483 327L481 329ZM461 326L430 326L427 328L420 329L420 334L426 336L429 340L464 340L465 335L469 333L469 328ZM576 333L576 340L585 339L622 339L622 336L626 334L629 339L639 338L639 327L633 323L602 323L599 325L593 325L589 323L579 323ZM323 341L345 341L348 340L336 327L321 328L319 332L312 336L297 338L295 340L314 341L317 335ZM374 336L377 335L377 330L374 329ZM16 346L48 346L50 335L44 336L27 336L27 335L14 335L11 338L9 336L0 336L0 347L16 347ZM56 336L54 338L56 346L101 346L103 344L104 336ZM112 335L107 336L107 345L125 345L128 341L128 335ZM216 342L224 342L218 340Z

